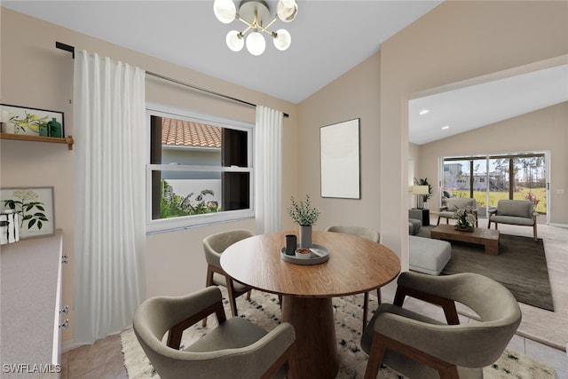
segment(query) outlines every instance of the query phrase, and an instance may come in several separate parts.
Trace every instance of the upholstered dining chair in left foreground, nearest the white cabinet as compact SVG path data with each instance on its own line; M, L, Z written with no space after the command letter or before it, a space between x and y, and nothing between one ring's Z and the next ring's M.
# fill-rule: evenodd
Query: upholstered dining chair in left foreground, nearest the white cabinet
M183 331L212 313L218 327L179 350ZM283 322L266 332L241 317L227 320L215 286L147 299L134 314L133 328L162 379L281 378L287 371L297 377L294 327Z

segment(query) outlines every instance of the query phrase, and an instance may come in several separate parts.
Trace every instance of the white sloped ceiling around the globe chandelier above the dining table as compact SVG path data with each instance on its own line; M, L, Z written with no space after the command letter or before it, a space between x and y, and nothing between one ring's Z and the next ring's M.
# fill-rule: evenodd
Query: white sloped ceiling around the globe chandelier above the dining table
M267 3L274 14L276 0ZM297 3L296 20L272 27L288 29L290 48L277 51L267 40L259 57L227 48L227 32L242 31L244 24L219 22L213 0L3 0L2 6L297 104L373 55L441 0Z

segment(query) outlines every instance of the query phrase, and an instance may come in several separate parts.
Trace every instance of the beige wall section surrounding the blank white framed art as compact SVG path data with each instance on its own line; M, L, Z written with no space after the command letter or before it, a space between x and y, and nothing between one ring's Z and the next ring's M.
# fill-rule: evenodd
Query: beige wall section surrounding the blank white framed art
M380 54L354 67L299 106L298 196L312 196L321 210L316 229L332 224L379 229L379 65ZM319 128L359 118L360 200L320 197Z

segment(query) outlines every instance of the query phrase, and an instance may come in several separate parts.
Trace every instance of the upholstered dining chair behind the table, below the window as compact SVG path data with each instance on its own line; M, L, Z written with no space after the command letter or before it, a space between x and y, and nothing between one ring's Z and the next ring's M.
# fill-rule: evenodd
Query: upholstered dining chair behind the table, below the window
M250 299L251 288L234 281L221 267L221 254L233 243L251 237L253 233L246 229L237 229L227 232L211 234L203 239L203 252L207 261L207 278L205 286L223 286L227 288L231 313L238 316L236 298L247 294ZM207 319L203 320L203 326L207 324Z

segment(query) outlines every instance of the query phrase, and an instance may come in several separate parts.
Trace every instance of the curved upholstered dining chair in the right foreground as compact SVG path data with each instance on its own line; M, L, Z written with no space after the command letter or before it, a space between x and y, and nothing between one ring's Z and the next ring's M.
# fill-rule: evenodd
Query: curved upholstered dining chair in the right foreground
M442 306L446 323L403 308L406 296ZM480 322L460 324L455 302L476 312ZM521 310L509 289L472 272L431 276L403 272L394 304L381 304L361 336L369 354L365 378L382 364L412 378L483 378L515 335Z

